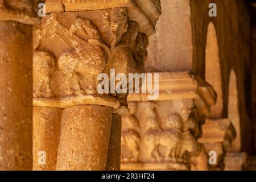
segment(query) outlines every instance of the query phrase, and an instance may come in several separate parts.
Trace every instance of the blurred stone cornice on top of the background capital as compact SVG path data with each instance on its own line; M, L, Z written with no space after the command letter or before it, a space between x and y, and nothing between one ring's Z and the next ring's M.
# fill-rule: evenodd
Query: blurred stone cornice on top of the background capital
M159 97L152 101L192 99L200 114L208 114L216 102L216 92L203 79L190 72L159 73ZM148 94L129 94L127 101L150 101Z

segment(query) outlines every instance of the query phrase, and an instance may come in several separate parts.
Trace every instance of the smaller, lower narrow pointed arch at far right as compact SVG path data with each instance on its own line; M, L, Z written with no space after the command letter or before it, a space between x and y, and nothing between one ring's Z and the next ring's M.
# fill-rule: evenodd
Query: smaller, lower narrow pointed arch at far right
M241 129L240 129L240 114L238 110L238 90L237 77L234 69L230 71L229 76L229 97L228 97L228 118L232 121L236 129L237 137L232 142L231 151L240 151L241 149Z

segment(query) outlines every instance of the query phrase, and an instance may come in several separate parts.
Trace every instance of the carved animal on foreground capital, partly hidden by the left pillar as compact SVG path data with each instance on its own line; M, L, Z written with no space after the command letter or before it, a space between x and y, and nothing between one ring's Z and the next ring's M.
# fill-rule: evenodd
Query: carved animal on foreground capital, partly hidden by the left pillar
M55 59L47 51L33 53L33 95L34 97L52 97L51 75Z

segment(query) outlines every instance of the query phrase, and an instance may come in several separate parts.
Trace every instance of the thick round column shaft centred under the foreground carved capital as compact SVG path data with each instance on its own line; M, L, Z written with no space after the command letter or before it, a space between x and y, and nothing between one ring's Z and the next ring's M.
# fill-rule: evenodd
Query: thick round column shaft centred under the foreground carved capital
M63 110L56 170L105 170L112 112L96 105Z

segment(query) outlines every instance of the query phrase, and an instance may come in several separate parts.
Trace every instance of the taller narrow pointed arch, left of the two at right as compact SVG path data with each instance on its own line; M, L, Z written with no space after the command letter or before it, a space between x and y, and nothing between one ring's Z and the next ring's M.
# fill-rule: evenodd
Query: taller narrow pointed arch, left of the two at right
M222 118L223 96L220 57L218 52L218 40L214 24L210 22L207 30L207 44L205 47L205 80L211 84L217 92L216 105L210 108L208 118Z

